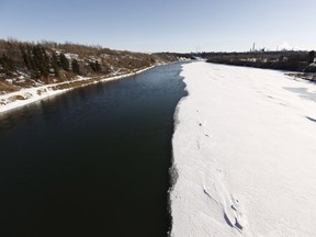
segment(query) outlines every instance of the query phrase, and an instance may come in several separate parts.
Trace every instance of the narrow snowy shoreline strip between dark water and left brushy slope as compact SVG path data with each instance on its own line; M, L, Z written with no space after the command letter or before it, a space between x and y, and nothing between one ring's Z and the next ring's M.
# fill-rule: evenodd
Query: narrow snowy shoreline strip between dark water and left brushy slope
M119 76L113 76L113 77L101 77L101 78L78 77L76 80L71 80L71 81L45 84L41 87L25 88L25 89L21 89L20 91L0 94L0 113L36 102L38 100L42 100L48 97L64 93L74 88L84 87L84 86L98 83L98 82L122 79L125 77L133 76L135 74L140 74L153 67L155 66L140 69L135 72L119 75Z

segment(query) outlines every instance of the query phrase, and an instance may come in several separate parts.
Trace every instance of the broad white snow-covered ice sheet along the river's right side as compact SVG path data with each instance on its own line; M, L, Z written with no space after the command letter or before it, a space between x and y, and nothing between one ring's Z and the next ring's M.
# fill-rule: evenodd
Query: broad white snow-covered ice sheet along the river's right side
M202 61L181 75L171 236L316 236L316 86Z

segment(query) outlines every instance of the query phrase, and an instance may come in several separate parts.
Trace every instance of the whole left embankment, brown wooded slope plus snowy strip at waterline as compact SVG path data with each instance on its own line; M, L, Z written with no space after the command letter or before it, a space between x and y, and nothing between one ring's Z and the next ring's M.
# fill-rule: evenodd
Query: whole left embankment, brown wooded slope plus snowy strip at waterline
M0 41L0 112L68 89L183 60L183 56L111 50L69 43Z

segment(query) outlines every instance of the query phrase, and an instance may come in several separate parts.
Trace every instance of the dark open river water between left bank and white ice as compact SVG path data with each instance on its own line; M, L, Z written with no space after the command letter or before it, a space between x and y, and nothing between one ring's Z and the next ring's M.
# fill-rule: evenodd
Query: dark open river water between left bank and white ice
M167 236L181 64L0 115L0 236Z

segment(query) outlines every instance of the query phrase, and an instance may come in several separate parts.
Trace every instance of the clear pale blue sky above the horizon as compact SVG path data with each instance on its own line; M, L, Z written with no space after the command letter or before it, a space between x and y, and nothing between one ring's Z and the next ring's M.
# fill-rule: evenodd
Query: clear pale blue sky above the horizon
M0 0L0 38L137 52L316 49L315 0Z

